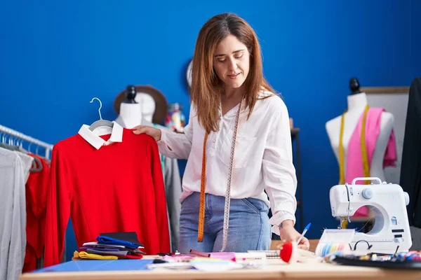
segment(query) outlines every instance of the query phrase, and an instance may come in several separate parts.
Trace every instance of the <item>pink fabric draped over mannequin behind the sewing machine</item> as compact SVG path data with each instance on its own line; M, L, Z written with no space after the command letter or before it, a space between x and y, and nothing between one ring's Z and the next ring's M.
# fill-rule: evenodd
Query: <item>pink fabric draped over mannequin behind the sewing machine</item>
M371 166L371 160L373 159L373 153L377 144L377 139L380 134L380 123L382 118L382 112L385 112L383 108L370 108L367 112L366 118L366 150L368 154L368 166ZM351 183L356 177L363 177L363 157L361 155L361 125L363 124L363 114L359 118L359 123L356 125L354 133L348 144L347 151L347 170L345 172L345 182ZM396 153L396 140L394 136L394 130L390 134L389 141L383 159L383 168L385 167L396 167L397 153ZM361 207L358 209L354 217L368 216L368 208Z

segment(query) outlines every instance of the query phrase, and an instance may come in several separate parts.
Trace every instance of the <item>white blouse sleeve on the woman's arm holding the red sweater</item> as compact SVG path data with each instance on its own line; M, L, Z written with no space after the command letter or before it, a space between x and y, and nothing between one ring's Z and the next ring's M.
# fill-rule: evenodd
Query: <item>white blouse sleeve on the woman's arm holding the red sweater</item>
M189 123L184 128L183 133L172 132L161 129L161 140L159 140L159 152L168 158L187 160L192 150L193 125L191 123L194 109L190 106Z

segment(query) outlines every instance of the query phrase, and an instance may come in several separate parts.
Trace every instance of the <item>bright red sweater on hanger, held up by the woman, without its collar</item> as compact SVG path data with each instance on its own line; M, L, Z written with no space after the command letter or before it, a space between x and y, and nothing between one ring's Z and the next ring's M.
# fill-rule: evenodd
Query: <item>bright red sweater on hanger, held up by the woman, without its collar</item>
M55 144L50 174L45 267L60 262L69 216L79 247L102 232L137 232L146 253L169 252L165 189L152 137L123 129L122 142L96 150L76 134Z

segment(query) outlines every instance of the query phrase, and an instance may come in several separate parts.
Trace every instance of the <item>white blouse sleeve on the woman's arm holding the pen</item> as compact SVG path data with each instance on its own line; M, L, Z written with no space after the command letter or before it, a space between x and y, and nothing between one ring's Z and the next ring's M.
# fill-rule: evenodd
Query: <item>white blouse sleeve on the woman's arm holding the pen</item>
M272 209L272 232L279 235L279 225L285 220L295 224L297 176L293 165L289 115L281 101L273 112L274 123L269 132L262 161L265 190Z

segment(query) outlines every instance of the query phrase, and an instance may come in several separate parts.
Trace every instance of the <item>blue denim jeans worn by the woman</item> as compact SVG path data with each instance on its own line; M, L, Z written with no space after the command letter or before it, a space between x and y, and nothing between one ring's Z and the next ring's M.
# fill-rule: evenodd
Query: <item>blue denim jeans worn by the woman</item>
M222 248L225 197L206 194L203 241L197 241L200 193L193 193L182 202L180 214L180 242L178 251L190 249L218 252ZM271 226L267 216L269 207L255 198L232 199L226 252L269 250Z

